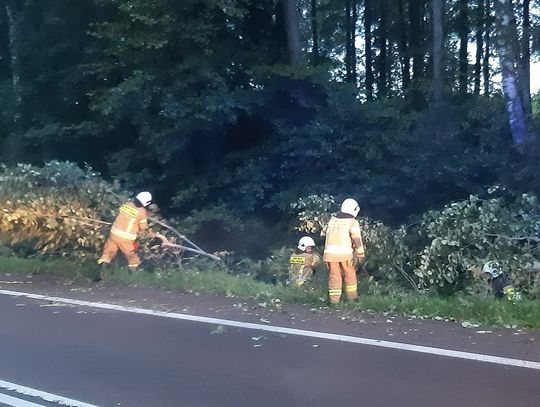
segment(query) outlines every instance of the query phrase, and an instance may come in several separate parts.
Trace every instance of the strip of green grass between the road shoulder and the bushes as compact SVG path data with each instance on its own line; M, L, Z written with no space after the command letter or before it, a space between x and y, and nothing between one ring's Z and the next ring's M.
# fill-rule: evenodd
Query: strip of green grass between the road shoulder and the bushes
M0 271L17 274L41 274L57 279L91 279L98 269L92 264L67 260L42 261L0 257ZM123 268L112 268L106 280L126 285L174 289L189 293L217 294L241 299L257 299L271 304L301 303L311 306L325 305L325 292L319 289L296 289L265 284L251 276L236 276L224 271L183 269L156 270L153 273L130 274ZM490 326L517 326L540 329L540 301L523 300L513 305L508 301L491 298L455 296L443 298L408 291L386 290L369 293L367 282L361 283L360 301L344 304L348 310L391 312L396 315L433 319L452 319L469 324Z

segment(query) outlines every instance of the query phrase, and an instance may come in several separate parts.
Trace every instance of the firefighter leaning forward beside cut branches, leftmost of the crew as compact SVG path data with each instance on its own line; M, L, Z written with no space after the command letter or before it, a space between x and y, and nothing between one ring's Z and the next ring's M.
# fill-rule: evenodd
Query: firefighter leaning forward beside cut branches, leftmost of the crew
M140 230L148 229L148 213L145 208L151 202L152 194L150 192L141 192L133 201L126 202L120 207L98 264L110 264L120 249L126 256L130 269L134 270L139 267L141 260L137 256L137 243L135 240Z

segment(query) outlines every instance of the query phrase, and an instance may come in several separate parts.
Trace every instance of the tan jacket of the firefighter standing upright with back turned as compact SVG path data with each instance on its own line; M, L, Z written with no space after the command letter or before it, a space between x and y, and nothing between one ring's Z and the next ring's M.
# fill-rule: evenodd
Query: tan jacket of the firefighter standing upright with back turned
M352 260L355 250L359 255L364 253L358 221L353 217L333 217L330 219L326 229L324 261Z

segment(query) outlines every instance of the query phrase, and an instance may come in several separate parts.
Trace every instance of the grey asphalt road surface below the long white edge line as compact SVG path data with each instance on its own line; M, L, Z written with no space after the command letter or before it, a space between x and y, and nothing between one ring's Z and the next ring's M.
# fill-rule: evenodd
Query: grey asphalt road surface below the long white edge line
M1 295L0 381L100 407L540 406L539 370Z

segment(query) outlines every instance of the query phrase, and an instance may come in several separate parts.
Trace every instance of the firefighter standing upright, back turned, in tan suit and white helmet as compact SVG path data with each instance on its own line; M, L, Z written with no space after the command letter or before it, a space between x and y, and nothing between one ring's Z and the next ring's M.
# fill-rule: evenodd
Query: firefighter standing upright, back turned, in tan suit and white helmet
M360 224L356 220L359 212L358 202L346 199L341 204L341 211L330 219L326 228L323 259L329 270L328 298L331 304L339 303L343 289L347 299L358 298L354 256L360 261L365 258Z

